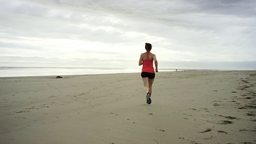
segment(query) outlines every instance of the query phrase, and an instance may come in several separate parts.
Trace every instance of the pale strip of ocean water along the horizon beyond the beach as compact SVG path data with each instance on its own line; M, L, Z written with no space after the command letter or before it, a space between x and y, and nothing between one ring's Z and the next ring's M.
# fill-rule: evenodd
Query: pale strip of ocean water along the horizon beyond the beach
M158 69L176 71L176 69ZM184 70L184 69L180 69ZM141 68L65 68L65 67L0 67L0 77L14 76L65 76L82 74L115 74L141 72Z

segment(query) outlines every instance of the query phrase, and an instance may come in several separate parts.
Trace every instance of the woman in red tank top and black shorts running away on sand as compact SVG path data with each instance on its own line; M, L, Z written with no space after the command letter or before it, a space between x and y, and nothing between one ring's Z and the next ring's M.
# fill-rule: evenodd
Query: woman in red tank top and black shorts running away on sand
M152 45L150 43L145 44L146 52L140 54L139 66L142 66L141 77L144 83L144 90L146 93L146 103L151 104L151 94L152 94L152 84L155 78L155 71L153 66L153 61L155 62L156 72L158 72L156 55L152 54L150 50Z

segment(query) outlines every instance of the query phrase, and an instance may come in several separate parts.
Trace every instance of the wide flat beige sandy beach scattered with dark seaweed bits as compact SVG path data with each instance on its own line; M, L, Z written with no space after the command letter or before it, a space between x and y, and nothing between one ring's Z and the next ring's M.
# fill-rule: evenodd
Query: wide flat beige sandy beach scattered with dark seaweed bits
M255 71L0 78L0 143L255 144Z

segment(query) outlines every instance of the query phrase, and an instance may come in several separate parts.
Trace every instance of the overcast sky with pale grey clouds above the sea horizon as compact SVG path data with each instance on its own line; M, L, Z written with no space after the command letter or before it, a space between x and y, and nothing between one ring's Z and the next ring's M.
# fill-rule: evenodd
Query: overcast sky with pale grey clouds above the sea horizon
M0 66L256 69L256 0L0 0Z

